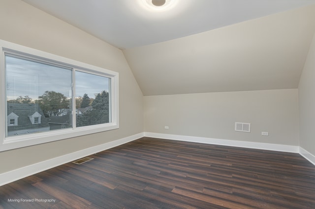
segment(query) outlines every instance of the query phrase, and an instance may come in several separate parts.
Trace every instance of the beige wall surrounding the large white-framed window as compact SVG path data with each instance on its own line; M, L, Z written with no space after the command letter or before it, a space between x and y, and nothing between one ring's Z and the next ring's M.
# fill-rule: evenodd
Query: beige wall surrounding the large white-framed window
M120 129L0 152L0 173L143 132L143 95L121 50L21 0L0 0L0 28L2 40L116 71L120 78Z

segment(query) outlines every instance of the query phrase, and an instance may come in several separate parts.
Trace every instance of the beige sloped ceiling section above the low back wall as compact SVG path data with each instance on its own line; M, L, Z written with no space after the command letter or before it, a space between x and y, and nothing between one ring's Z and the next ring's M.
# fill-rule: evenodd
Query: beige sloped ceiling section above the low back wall
M315 6L124 50L144 95L297 88Z

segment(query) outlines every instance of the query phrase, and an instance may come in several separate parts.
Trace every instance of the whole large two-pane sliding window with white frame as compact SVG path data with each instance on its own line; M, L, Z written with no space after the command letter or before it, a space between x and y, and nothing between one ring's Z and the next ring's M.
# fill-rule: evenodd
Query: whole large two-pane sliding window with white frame
M29 146L119 128L118 73L0 44L5 118L0 151L23 147L26 139Z

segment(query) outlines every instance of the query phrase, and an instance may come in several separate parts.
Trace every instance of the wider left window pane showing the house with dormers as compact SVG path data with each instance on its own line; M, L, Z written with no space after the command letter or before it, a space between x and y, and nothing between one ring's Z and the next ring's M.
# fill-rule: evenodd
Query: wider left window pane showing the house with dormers
M72 70L5 55L6 136L72 128Z

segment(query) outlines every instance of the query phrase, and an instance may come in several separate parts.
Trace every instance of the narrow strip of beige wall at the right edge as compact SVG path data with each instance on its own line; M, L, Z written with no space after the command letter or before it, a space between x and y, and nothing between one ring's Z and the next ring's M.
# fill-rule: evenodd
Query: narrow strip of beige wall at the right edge
M300 147L315 156L315 34L299 83Z

